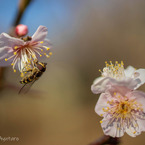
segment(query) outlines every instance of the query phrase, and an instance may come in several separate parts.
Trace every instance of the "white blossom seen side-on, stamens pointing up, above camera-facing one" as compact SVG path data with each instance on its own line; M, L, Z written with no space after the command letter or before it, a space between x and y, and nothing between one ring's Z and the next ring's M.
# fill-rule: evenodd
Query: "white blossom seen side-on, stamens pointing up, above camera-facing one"
M105 92L111 88L112 85L125 86L131 90L139 88L145 83L145 69L136 70L132 66L128 66L124 69L124 64L115 62L115 65L106 63L106 67L103 71L99 70L102 74L101 77L95 79L91 86L91 90L94 94Z

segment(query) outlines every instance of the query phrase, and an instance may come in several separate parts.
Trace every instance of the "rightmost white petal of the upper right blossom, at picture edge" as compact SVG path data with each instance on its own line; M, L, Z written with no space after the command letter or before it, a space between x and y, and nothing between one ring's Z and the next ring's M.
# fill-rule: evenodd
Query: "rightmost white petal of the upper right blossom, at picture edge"
M138 73L138 77L136 79L140 79L140 83L135 87L135 89L139 88L141 85L145 83L145 69L138 69L135 71L135 73Z

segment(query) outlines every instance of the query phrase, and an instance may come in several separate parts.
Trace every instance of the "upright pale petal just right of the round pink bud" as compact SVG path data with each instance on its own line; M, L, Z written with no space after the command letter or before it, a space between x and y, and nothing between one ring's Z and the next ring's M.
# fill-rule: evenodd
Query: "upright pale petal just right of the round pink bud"
M39 26L36 32L32 36L32 41L44 41L46 35L48 33L48 29L45 26Z

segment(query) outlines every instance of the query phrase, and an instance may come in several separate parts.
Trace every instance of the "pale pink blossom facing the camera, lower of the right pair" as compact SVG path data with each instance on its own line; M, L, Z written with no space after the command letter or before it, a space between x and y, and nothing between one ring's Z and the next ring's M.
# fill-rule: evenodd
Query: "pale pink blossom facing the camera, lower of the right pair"
M122 137L126 132L136 137L145 131L145 93L126 87L113 87L102 93L95 111L105 135Z

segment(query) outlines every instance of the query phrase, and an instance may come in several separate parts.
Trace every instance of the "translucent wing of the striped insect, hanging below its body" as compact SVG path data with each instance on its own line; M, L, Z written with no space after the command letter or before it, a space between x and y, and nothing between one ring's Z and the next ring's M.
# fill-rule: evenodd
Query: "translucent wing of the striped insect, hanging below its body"
M32 87L32 85L35 83L36 80L33 80L32 82L28 83L28 84L24 84L22 86L22 88L19 90L18 94L26 94L28 93L28 91L30 90L30 88Z

